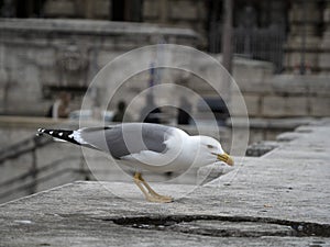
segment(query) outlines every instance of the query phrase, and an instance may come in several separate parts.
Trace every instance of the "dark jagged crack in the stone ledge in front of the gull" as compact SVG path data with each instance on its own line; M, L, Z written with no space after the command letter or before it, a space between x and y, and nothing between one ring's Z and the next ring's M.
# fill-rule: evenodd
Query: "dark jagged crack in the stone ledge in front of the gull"
M173 231L215 237L330 237L329 224L295 222L271 217L219 215L152 215L97 220L112 221L118 225L141 229ZM240 228L240 226L242 228ZM280 228L280 226L284 227ZM285 226L287 228L285 228Z

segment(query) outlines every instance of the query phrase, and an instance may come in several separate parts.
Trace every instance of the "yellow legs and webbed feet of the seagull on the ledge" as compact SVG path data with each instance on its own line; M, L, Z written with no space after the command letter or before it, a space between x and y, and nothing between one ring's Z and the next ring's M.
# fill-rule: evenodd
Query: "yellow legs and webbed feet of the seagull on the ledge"
M134 182L140 188L146 200L150 202L172 202L173 198L156 193L147 182L142 178L140 172L135 172Z

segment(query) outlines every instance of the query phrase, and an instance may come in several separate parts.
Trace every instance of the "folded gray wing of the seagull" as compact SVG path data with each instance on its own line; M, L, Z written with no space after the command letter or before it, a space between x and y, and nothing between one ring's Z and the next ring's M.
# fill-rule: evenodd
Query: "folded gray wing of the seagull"
M174 127L148 123L123 123L107 127L79 130L86 145L108 151L120 159L143 150L166 151L165 141Z

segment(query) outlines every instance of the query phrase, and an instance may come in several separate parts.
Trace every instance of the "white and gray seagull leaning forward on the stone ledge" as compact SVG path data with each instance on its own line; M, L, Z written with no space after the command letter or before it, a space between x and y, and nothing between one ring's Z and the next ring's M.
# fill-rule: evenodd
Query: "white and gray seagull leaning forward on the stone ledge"
M122 123L76 131L38 128L37 135L107 153L120 164L135 170L133 181L150 202L166 203L173 198L156 193L142 172L178 172L191 166L204 167L222 161L233 166L233 159L221 144L209 136L190 136L180 128L152 123Z

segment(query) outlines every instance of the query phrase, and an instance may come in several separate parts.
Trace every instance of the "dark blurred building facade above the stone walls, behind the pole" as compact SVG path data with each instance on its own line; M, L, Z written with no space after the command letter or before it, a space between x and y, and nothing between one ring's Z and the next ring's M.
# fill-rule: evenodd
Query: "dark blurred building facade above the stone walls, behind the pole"
M94 19L189 27L199 48L221 52L220 0L1 0L3 18ZM235 0L233 52L276 72L330 71L329 0Z

